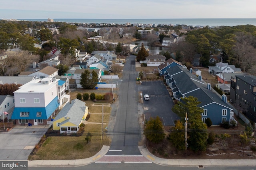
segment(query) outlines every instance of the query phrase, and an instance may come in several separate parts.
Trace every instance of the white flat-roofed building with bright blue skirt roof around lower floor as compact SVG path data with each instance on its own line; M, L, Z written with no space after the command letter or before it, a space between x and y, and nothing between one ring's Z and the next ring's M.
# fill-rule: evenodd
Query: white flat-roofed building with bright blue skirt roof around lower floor
M11 119L16 124L47 125L60 106L58 82L52 78L34 78L14 92L14 100Z

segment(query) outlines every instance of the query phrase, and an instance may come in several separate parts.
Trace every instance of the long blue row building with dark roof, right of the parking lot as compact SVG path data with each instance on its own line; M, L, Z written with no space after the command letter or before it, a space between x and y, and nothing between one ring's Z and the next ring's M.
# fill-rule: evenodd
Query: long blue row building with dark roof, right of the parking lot
M180 66L168 68L168 86L172 89L176 100L189 96L196 97L201 104L198 107L204 109L202 121L210 118L212 125L220 125L224 122L236 121L234 119L233 109L227 104L225 95L218 96L211 89L211 84L202 80L201 76L192 74L193 70Z

